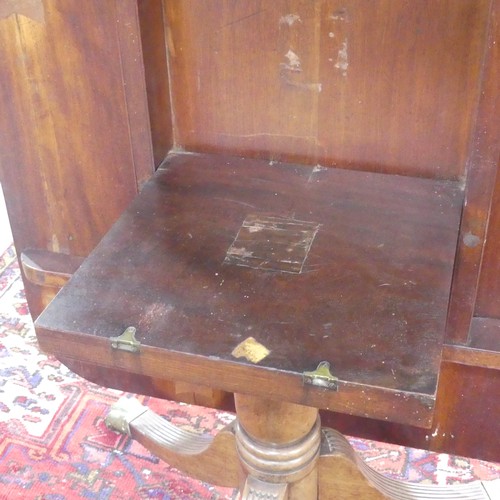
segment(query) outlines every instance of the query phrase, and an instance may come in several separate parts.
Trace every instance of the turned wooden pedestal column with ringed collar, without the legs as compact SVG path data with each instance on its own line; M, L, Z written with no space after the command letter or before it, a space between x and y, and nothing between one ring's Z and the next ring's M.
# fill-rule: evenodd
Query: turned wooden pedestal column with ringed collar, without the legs
M242 394L235 395L235 402L242 497L316 499L318 410Z

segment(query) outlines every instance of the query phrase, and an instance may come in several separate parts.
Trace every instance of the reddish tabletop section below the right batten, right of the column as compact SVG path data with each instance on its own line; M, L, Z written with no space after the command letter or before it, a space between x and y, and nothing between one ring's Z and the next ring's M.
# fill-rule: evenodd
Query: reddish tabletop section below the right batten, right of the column
M443 362L431 429L322 413L323 425L369 439L500 461L500 371Z

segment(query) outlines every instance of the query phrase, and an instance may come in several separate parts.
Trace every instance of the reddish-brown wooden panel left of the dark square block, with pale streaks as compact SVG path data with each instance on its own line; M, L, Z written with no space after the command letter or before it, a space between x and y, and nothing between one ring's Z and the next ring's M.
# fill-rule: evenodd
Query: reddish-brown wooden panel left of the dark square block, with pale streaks
M137 4L27 5L0 2L0 175L14 239L19 254L85 256L152 173ZM26 285L36 316L40 290Z

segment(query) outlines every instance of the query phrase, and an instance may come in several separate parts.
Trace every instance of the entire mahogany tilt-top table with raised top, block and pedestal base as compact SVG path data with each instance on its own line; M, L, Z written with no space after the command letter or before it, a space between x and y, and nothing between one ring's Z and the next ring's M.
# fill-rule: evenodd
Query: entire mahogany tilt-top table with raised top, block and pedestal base
M0 181L41 347L236 412L214 440L130 399L107 421L244 498L493 497L378 476L341 433L500 460L499 20L0 0Z

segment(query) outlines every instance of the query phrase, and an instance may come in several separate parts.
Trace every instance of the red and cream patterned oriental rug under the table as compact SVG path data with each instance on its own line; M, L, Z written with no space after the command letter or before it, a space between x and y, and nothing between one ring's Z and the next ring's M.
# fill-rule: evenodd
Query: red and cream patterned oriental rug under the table
M231 499L188 478L104 425L124 394L91 384L37 347L13 247L0 257L0 499ZM185 428L215 434L233 415L140 397ZM422 483L500 477L500 465L363 439L374 469Z

